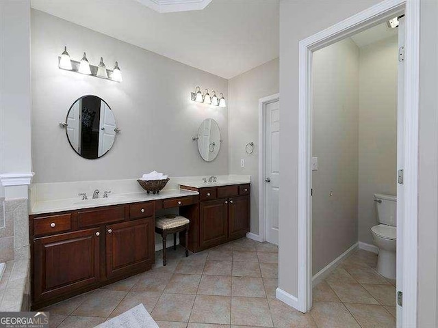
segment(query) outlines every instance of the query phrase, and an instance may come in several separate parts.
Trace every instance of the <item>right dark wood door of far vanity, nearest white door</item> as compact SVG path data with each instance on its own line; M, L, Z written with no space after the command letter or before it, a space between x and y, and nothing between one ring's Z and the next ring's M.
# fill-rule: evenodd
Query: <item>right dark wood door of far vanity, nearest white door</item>
M231 197L228 206L229 238L245 236L249 230L249 196Z

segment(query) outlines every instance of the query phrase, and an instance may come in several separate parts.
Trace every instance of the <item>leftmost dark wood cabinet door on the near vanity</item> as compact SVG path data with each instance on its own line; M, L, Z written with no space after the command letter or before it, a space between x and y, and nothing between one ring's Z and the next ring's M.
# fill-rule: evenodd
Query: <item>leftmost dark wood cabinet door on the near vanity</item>
M99 282L99 229L34 241L34 300L50 299Z

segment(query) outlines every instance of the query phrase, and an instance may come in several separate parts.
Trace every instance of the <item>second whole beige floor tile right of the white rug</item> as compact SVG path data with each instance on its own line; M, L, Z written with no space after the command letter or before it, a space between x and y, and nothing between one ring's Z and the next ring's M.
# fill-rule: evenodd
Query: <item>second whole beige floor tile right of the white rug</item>
M197 295L194 301L190 323L229 324L231 297Z

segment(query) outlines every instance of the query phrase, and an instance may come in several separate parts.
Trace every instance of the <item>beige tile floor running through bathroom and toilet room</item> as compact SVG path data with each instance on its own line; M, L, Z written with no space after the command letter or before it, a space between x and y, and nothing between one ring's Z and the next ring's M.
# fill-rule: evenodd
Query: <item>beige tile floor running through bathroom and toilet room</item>
M161 256L151 271L45 308L51 327L94 327L139 303L160 328L395 327L394 282L366 251L313 288L308 314L275 299L275 245L242 238L188 258L169 250L166 267Z

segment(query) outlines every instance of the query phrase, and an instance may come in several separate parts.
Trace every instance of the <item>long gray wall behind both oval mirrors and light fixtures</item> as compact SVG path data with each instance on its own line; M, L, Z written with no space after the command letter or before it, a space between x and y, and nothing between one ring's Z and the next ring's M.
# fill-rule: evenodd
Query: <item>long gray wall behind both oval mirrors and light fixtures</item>
M228 174L228 109L190 100L196 85L223 92L228 81L120 42L49 14L32 10L32 153L34 182L136 178L156 169L171 176ZM118 61L123 82L114 83L57 68L66 45L70 57L90 63ZM98 160L79 157L58 122L80 96L95 94L114 111L122 132ZM218 121L222 147L210 163L191 139L205 118Z

